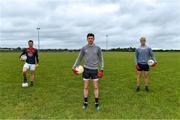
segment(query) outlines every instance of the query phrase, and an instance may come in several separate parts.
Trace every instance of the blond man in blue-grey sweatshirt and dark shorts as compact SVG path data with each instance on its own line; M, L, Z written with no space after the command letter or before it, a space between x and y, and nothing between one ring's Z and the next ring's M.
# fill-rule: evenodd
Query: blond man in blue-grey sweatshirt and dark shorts
M152 59L154 60L154 65L157 64L157 61L154 57L153 51L150 47L146 46L146 38L141 37L140 38L141 46L136 49L135 51L135 62L136 62L136 70L137 70L137 88L136 91L140 91L140 82L141 82L141 76L142 73L144 74L144 84L145 84L145 90L148 92L148 71L149 71L149 65L148 60Z

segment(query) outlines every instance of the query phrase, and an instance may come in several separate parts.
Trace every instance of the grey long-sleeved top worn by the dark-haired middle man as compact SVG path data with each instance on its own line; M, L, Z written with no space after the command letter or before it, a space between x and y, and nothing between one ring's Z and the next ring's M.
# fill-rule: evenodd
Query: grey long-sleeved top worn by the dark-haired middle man
M84 46L81 49L73 68L77 67L83 58L85 68L98 69L98 65L100 65L100 69L103 70L104 60L100 47L96 46L95 44Z

